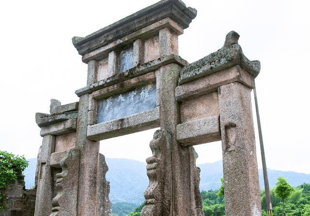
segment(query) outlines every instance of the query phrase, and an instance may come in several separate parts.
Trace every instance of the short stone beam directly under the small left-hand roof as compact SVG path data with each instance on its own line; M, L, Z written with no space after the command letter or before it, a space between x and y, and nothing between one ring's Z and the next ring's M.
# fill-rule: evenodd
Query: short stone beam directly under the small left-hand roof
M62 122L57 122L52 125L41 128L40 135L61 135L77 130L77 119L69 119Z

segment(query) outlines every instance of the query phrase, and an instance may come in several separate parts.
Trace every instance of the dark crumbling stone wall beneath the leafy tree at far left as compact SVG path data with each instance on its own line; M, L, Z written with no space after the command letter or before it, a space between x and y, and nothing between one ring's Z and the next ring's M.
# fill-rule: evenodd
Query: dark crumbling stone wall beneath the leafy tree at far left
M16 181L6 193L8 205L0 216L34 216L36 189L25 189L24 181Z

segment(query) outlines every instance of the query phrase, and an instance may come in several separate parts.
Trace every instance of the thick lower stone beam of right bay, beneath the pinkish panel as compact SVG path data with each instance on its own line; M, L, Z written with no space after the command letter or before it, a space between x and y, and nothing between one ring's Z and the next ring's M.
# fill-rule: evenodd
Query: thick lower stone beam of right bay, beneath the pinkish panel
M219 115L178 124L176 126L176 139L183 145L197 145L220 141Z

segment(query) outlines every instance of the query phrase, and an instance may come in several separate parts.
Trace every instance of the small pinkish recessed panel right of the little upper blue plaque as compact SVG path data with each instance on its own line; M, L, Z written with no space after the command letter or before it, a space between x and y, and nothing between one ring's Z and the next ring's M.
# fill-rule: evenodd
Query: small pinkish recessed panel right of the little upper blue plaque
M152 61L160 57L159 53L159 37L155 36L144 42L144 61L143 63Z

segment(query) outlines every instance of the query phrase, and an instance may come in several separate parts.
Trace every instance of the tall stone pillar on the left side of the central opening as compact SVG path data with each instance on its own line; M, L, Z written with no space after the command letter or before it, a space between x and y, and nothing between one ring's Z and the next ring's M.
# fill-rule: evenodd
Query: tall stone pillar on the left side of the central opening
M95 216L99 168L99 142L87 138L89 94L80 97L77 141L80 151L78 178L78 216Z

